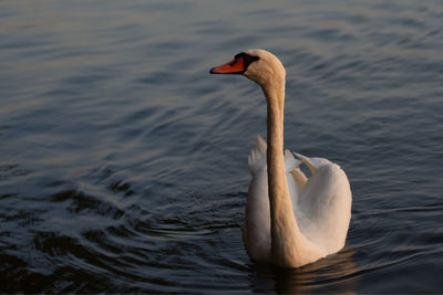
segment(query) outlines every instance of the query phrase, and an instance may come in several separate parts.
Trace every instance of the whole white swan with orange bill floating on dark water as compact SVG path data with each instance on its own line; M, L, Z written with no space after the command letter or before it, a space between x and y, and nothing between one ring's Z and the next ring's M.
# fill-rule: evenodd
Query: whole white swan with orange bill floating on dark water
M284 151L286 71L280 60L265 50L247 50L210 73L248 77L261 86L267 102L267 141L257 136L248 158L243 238L251 261L300 267L340 251L351 219L348 177L328 159Z

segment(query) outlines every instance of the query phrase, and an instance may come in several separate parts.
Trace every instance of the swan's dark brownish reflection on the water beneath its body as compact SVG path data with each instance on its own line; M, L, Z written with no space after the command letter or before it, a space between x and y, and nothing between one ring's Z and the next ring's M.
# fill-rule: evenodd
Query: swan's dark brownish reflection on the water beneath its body
M251 287L257 292L275 291L284 294L297 293L354 293L360 277L352 256L357 251L344 247L301 268L270 267L255 265L255 282Z

